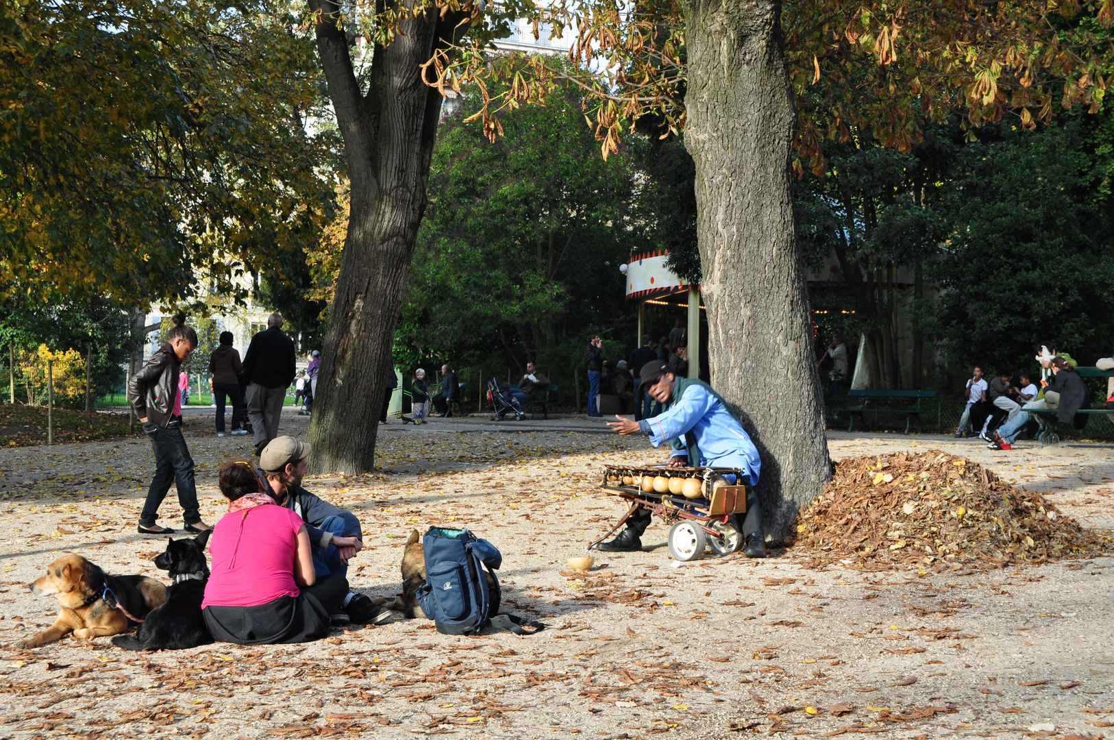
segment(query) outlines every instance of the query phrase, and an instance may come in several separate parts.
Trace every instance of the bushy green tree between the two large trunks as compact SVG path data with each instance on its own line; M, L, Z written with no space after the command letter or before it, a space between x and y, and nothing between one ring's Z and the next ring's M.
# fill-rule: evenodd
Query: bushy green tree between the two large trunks
M624 310L618 265L647 245L629 157L599 156L570 95L507 116L495 143L461 120L480 105L438 134L400 349L524 368L568 340L575 357L554 361L575 364L582 334Z

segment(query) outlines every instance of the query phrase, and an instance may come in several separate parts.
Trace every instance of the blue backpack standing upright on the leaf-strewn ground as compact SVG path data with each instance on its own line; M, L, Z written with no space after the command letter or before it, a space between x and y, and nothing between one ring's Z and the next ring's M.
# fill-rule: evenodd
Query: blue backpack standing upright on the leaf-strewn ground
M502 555L491 543L468 529L430 527L422 547L426 583L418 588L418 603L438 632L476 634L495 624L518 634L532 634L545 626L499 614L502 592L495 571L502 565Z

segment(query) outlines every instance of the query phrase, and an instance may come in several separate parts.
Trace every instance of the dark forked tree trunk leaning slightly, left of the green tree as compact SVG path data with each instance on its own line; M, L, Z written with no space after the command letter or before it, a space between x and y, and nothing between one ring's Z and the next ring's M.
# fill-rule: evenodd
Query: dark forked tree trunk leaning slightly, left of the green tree
M374 465L377 420L441 113L441 94L426 86L419 66L460 18L408 16L389 47L375 47L364 94L336 23L338 6L310 6L321 13L317 50L351 183L348 236L310 423L311 465L354 474Z

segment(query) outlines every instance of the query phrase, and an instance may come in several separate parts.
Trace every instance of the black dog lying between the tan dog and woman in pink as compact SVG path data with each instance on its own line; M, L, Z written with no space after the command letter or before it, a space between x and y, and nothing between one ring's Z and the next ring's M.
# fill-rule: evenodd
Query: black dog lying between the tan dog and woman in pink
M170 539L155 565L168 571L174 585L166 590L166 603L152 610L135 636L121 634L113 644L125 650L185 650L213 642L202 615L202 600L208 581L205 544L209 532L193 539Z

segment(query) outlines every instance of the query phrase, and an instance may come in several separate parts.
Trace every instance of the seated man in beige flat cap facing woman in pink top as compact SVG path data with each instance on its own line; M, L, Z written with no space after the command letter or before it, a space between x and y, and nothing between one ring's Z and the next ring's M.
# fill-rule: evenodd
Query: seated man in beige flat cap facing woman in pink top
M266 493L305 522L313 545L313 567L319 576L348 574L348 562L363 549L360 519L322 500L302 487L310 467L311 447L293 437L275 437L260 454L260 478ZM345 622L379 623L390 619L389 611L371 603L364 594L349 592L341 602L343 614L333 614L333 624Z

